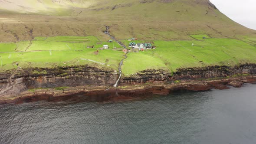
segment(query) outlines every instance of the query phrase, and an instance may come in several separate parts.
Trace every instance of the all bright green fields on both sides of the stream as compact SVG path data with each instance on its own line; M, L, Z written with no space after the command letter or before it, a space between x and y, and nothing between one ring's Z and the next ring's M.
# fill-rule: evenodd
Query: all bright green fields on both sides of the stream
M193 35L193 37L200 38L202 35ZM122 40L122 42L127 46L130 43L127 40ZM253 43L249 39L245 42L237 39L207 37L201 40L138 40L135 42L151 42L157 48L128 53L128 58L122 65L123 75L135 74L146 69L164 69L175 72L179 68L256 63L256 47L248 43ZM194 43L193 46L192 43ZM124 58L124 53L121 49L112 48L97 52L103 44L108 44L110 47L118 46L115 42L100 42L95 36L36 37L31 42L0 43L0 68L2 70L16 69L16 63L23 68L92 64L99 68L117 70L119 62ZM87 45L94 45L95 48L87 49Z

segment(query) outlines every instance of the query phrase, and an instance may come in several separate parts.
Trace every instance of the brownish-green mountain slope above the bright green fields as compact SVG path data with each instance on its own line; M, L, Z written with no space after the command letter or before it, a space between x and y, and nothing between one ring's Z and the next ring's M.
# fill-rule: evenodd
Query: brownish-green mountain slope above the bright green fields
M137 37L153 40L256 37L221 13L209 0L0 0L1 41L35 36Z

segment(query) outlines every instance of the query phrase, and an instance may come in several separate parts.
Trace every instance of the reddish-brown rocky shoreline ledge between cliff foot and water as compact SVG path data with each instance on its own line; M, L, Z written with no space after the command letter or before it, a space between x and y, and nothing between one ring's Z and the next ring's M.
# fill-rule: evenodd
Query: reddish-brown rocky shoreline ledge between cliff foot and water
M144 95L168 95L177 90L207 91L210 89L229 89L230 86L241 87L244 83L256 84L256 75L239 76L235 78L215 78L209 79L187 79L179 82L167 81L165 83L146 83L138 85L121 85L118 88L106 86L76 86L63 87L56 90L54 88L29 89L17 94L7 94L0 97L0 104L20 104L33 101L65 101L69 99L81 99L93 97L108 97L115 99L129 99ZM103 98L104 99L104 98Z

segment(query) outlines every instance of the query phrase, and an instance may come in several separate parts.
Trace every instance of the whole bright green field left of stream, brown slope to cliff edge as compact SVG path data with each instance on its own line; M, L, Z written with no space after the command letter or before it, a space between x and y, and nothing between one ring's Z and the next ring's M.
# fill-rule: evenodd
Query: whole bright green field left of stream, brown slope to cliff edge
M123 58L123 52L111 50L111 48L97 52L98 48L104 44L110 47L119 45L116 42L100 42L95 36L81 38L70 36L70 39L68 36L63 36L63 39L61 36L36 37L35 39L37 40L31 41L31 43L30 41L0 43L0 68L3 70L15 69L17 68L16 63L19 63L21 67L56 67L89 63L98 67L117 69L118 63ZM79 41L81 39L84 42ZM86 48L92 45L95 48ZM90 59L96 62L82 59ZM106 65L101 65L97 62L105 63Z

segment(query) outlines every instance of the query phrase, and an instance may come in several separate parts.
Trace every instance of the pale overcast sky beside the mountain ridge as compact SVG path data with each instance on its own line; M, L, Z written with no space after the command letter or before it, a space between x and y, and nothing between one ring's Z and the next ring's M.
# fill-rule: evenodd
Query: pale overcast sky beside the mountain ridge
M256 0L210 0L230 19L256 29Z

